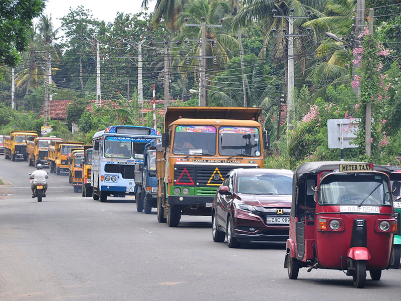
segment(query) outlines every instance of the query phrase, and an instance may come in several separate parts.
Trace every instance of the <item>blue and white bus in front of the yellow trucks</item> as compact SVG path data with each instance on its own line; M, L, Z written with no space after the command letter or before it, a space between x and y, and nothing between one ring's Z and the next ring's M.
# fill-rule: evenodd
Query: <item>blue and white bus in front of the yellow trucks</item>
M107 201L107 196L135 194L135 165L143 162L145 145L160 139L157 129L145 126L114 125L93 136L92 196Z

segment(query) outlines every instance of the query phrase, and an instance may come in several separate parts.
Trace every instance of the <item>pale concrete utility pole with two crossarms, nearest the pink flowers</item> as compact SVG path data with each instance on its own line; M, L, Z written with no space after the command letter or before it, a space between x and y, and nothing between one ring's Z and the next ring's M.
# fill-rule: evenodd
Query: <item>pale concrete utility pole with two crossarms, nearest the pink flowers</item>
M311 11L307 11L308 16L294 16L295 9L290 9L289 16L276 16L277 10L272 10L273 18L288 19L288 35L283 29L282 35L275 35L276 30L272 30L273 37L286 37L288 39L288 71L287 71L287 132L293 128L295 120L295 102L294 102L294 38L309 36L311 28L307 28L308 34L294 35L294 19L309 19ZM287 141L289 142L289 141Z

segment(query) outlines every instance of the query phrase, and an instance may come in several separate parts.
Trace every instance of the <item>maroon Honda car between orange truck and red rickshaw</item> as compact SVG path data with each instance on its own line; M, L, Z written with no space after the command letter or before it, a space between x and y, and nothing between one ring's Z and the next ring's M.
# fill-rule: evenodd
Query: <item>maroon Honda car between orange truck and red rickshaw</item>
M288 238L293 172L235 169L216 192L212 205L213 240L230 248L241 242ZM226 234L227 233L227 234Z

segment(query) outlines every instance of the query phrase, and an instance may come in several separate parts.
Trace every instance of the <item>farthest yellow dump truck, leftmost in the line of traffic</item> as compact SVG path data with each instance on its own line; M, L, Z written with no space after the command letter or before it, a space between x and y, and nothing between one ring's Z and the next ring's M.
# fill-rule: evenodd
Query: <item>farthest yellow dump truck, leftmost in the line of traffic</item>
M4 136L4 159L27 160L27 141L33 141L37 136L36 131L12 130L9 136Z

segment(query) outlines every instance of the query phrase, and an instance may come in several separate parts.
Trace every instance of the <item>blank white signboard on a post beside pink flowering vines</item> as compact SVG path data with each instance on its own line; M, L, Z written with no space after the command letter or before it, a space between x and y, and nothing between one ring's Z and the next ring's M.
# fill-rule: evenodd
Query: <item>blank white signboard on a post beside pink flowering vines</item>
M327 135L329 148L358 147L352 143L356 138L356 132L360 118L354 119L328 119ZM341 147L342 144L342 147Z

